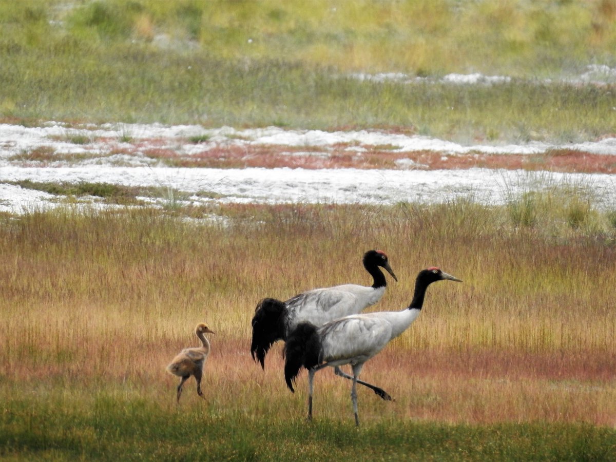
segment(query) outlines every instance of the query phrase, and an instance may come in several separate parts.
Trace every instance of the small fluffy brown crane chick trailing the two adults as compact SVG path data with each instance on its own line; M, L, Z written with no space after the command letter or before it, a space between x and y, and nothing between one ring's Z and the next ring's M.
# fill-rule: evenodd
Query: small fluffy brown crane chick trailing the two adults
M195 327L195 334L201 340L200 347L185 348L183 349L167 366L167 371L170 374L180 377L180 384L177 386L177 402L180 401L180 395L182 394L182 386L190 376L194 376L197 381L197 394L205 399L203 392L201 392L201 377L203 376L203 366L208 359L209 355L209 341L205 337L205 334L213 334L214 331L210 330L205 323L197 324Z

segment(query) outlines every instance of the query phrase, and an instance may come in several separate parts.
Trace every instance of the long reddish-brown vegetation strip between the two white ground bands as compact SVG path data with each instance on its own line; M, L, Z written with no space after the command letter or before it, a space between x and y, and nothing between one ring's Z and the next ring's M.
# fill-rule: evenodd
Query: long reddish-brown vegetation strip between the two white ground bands
M580 173L616 173L616 155L577 150L551 150L546 153L450 154L435 151L399 152L392 148L336 144L330 147L288 147L280 145L214 145L184 155L165 146L161 140L140 142L130 153L142 152L150 158L179 167L201 168L358 168L358 169L525 169ZM398 161L402 161L397 163Z

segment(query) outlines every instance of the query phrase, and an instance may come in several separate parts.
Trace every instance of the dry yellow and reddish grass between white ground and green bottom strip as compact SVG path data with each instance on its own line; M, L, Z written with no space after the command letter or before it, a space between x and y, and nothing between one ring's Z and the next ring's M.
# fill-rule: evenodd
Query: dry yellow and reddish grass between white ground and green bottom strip
M254 306L263 296L365 283L363 251L383 248L400 282L371 310L407 306L427 265L464 283L431 287L418 320L366 365L363 378L395 402L360 391L362 419L616 424L612 246L556 245L490 222L477 235L472 222L452 226L452 208L422 223L395 208L295 207L256 210L254 222L228 227L143 212L4 220L0 396L105 391L172 411L177 384L164 366L208 319L217 334L204 405L221 415L303 417L306 375L290 394L280 345L265 371L249 355ZM323 371L315 387L315 417L351 412L348 381Z

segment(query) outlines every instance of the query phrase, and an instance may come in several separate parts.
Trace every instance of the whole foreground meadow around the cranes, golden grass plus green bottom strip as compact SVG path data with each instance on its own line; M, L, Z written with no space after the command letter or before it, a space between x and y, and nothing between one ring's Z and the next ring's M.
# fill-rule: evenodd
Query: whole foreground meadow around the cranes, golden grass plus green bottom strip
M537 211L540 207L537 206ZM187 211L186 211L187 212ZM207 218L211 214L224 220ZM217 206L4 216L0 226L0 456L8 460L615 460L616 228L512 209ZM590 216L588 217L590 221ZM561 221L558 228L543 226ZM359 391L330 370L295 394L281 347L249 355L263 296L368 283L363 251L385 249L399 282L370 310L402 309L416 273L423 313L367 363ZM213 352L205 402L164 371L197 344ZM357 453L355 453L357 452Z

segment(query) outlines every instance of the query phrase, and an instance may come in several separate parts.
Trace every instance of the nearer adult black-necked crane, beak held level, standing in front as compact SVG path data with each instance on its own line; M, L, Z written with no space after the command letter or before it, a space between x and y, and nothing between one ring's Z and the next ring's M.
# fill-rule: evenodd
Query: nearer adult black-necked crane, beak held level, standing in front
M285 380L293 390L293 382L302 367L308 370L308 419L312 419L314 375L325 367L350 364L353 370L351 400L355 424L359 426L357 411L357 383L362 367L392 339L407 330L423 307L426 289L436 281L462 282L437 267L424 269L417 275L415 293L410 305L402 311L355 314L328 322L320 327L301 323L287 336L285 344ZM363 383L368 387L371 384Z

